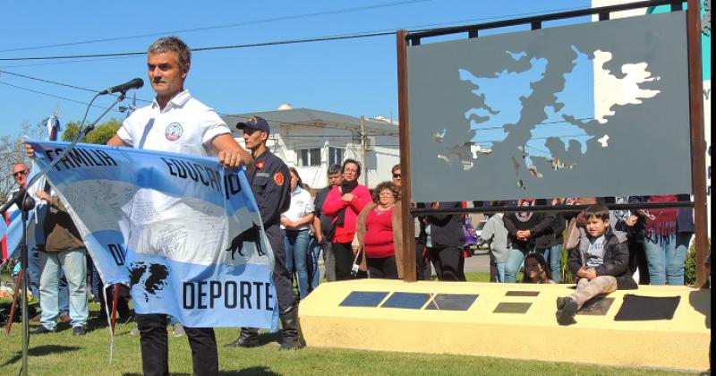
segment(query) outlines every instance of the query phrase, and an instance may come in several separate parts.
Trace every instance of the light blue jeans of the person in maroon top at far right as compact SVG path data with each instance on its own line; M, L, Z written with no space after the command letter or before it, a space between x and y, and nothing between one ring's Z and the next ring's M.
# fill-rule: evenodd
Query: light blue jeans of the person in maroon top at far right
M652 235L644 239L652 285L684 286L684 266L692 233Z

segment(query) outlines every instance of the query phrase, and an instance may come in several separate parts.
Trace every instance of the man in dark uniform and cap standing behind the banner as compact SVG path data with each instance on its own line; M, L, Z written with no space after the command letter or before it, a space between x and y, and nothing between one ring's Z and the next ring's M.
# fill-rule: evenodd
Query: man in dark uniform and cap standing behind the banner
M274 285L278 295L279 317L281 318L281 349L292 350L302 346L298 329L298 305L295 302L291 276L286 270L286 248L281 232L281 213L291 206L291 184L288 167L266 148L268 122L259 116L236 124L243 130L246 148L251 150L254 165L247 171L251 190L259 205L261 220L268 237L268 244L274 252ZM259 346L259 330L242 328L239 338L227 346Z

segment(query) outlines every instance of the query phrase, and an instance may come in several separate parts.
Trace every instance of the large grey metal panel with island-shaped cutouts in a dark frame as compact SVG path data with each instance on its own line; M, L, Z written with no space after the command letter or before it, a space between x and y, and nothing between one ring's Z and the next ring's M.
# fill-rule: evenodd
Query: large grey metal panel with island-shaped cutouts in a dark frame
M686 47L685 12L408 47L413 201L692 192Z

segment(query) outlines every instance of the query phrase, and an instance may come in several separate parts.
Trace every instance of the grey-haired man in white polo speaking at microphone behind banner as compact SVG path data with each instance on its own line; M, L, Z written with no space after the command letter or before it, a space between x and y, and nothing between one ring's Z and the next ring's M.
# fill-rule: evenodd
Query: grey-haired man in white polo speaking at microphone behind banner
M124 120L107 145L217 155L218 162L227 168L251 164L251 155L236 143L217 113L184 90L192 58L189 47L176 37L160 38L149 46L147 57L149 81L157 97L151 105L137 109ZM137 314L136 320L144 374L169 374L166 315ZM217 375L214 329L185 330L192 347L194 374Z

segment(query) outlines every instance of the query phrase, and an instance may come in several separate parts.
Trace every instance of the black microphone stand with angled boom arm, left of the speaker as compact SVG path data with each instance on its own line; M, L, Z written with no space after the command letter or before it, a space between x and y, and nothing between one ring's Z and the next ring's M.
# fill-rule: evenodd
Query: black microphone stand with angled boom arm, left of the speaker
M87 113L90 112L90 107L92 106L92 103L99 97L100 94L95 95L94 98L90 101L90 105L87 107L87 112L85 112L85 118L82 119L82 123L84 124L84 121L87 119ZM80 132L77 132L77 135L75 136L74 140L72 140L72 143L70 144L67 149L65 149L62 153L60 153L59 156L57 156L55 159L53 159L47 167L43 168L37 175L32 176L32 179L30 179L30 182L28 182L27 186L30 187L32 184L35 184L38 179L44 175L47 175L50 169L55 167L57 163L59 163L67 154L74 150L74 146L79 142L84 136L87 135L87 133L91 132L93 129L95 129L95 125L98 124L99 120L102 119L109 111L111 111L116 105L118 105L120 102L126 98L126 91L122 91L122 93L119 95L119 97L116 98L115 103L112 104L112 106L107 107L105 112L102 113L102 115L99 115L97 120L92 122L91 124L81 128ZM28 221L28 213L30 210L35 208L35 199L30 197L30 195L27 192L27 188L20 187L20 190L18 192L15 192L13 194L13 198L5 202L2 208L0 208L0 215L4 215L4 213L10 209L13 204L16 204L19 209L22 211L22 237L21 237L21 243L20 243L20 268L21 268L21 275L22 275L22 368L21 368L21 374L23 376L27 376L28 374L28 347L30 346L30 328L29 328L29 315L28 315L28 239L27 239L27 221Z

